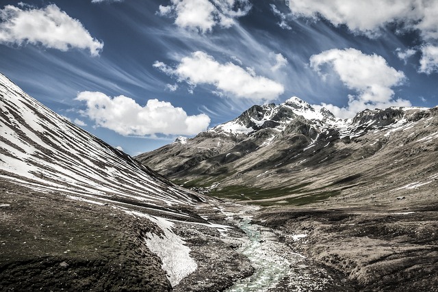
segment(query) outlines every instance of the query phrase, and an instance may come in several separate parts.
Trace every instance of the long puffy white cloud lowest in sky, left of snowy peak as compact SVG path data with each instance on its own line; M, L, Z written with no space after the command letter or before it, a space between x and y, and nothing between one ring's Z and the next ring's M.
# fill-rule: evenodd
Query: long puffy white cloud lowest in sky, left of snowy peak
M188 116L181 107L150 99L141 106L127 96L111 98L101 92L80 92L77 101L86 101L83 116L94 120L97 127L121 135L194 135L207 129L210 118L205 114Z

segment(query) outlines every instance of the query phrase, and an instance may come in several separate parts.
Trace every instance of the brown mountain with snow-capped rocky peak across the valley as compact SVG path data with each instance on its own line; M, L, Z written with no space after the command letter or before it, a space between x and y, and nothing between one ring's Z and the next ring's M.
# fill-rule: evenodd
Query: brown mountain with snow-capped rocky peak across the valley
M437 187L437 138L437 107L340 120L291 98L136 159L181 185L263 205L337 204L340 194L351 204L398 196L421 202Z

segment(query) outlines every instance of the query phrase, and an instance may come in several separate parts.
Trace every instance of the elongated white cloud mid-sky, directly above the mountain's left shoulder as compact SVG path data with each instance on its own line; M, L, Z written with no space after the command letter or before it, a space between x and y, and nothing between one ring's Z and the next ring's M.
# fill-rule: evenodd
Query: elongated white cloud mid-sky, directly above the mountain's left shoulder
M269 101L284 92L284 87L276 81L255 75L251 68L242 68L231 62L220 64L202 51L196 51L183 57L176 68L163 62L155 62L155 68L168 75L186 81L192 86L198 84L214 85L217 91L231 94L237 98L248 98L253 101Z

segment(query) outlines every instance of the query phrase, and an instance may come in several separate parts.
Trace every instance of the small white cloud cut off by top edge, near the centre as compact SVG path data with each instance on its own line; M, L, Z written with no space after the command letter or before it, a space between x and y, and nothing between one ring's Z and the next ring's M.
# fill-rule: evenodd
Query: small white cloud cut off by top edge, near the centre
M205 33L215 25L231 27L250 8L248 0L170 0L168 6L159 5L158 14L175 18L179 27Z

